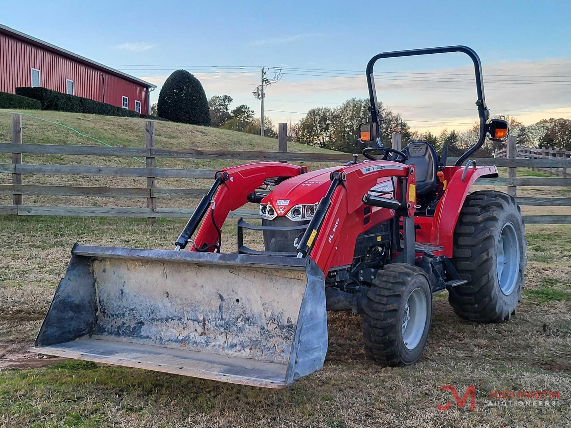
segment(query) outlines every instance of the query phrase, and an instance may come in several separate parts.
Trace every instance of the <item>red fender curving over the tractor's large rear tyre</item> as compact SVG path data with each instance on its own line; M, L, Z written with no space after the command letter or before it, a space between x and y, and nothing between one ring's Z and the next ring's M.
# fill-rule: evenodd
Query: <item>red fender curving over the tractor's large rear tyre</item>
M444 247L444 254L447 257L453 256L454 229L470 188L479 177L497 176L498 172L496 167L468 168L462 181L465 167L455 168L456 172L453 173L444 196L436 206L430 239L432 245Z

